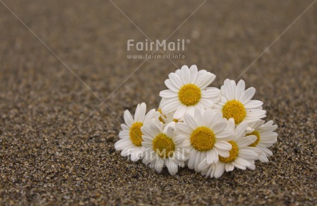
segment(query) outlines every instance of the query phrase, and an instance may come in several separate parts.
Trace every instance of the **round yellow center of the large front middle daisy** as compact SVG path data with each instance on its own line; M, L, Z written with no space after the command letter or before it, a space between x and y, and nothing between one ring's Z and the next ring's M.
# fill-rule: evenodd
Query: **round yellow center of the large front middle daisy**
M200 126L196 128L190 135L190 143L192 146L201 152L208 151L214 147L216 137L211 129Z

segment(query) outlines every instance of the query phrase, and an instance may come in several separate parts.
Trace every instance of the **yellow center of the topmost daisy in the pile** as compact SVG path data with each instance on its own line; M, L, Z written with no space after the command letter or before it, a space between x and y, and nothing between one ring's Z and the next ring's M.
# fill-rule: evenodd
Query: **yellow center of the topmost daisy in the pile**
M193 106L201 100L201 89L195 84L185 84L178 91L178 98L186 106Z

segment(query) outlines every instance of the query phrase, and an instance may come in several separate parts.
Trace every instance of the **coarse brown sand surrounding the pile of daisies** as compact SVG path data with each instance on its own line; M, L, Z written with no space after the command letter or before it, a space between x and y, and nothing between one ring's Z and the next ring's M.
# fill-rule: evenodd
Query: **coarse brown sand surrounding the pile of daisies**
M110 1L4 2L60 60L0 3L0 205L317 204L317 4L269 47L312 1L207 1L185 23L203 1L114 1L152 40L183 23L169 41L190 43L167 53L185 58L143 63L127 40L145 36ZM241 78L278 124L269 163L205 179L114 150L123 111L157 108L168 73L196 64L220 87L267 47Z

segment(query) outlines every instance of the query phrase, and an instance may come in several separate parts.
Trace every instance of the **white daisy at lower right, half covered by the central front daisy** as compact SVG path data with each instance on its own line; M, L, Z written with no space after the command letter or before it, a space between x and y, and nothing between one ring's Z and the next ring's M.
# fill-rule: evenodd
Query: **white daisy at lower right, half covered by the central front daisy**
M232 145L229 151L229 157L219 157L217 163L207 164L207 159L204 159L199 165L198 170L206 176L219 178L224 172L239 168L241 170L254 170L254 160L258 159L260 150L250 147L249 144L256 140L255 135L245 137L245 130L247 129L247 122L239 124L235 129L234 119L229 119L228 127L234 130L232 140L228 141Z

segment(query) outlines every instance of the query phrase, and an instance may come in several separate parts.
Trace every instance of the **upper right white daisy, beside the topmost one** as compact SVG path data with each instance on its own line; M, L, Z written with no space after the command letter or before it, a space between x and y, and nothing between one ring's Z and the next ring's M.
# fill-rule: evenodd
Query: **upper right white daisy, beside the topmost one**
M266 111L262 109L263 102L251 100L255 92L254 87L245 90L243 80L236 84L234 80L227 79L221 86L221 101L214 108L221 111L226 119L234 118L236 124L254 122L266 117Z

